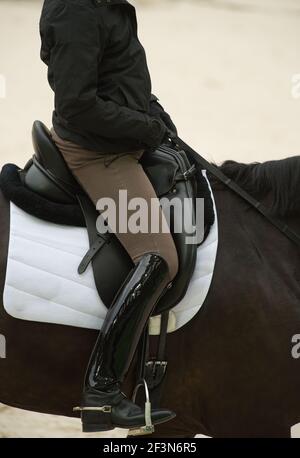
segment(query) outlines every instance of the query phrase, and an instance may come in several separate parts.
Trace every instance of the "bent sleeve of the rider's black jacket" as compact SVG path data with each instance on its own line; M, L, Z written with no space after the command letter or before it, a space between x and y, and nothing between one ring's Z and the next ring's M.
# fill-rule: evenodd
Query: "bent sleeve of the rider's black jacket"
M106 30L104 24L99 27L95 10L68 2L59 5L41 24L41 34L52 37L49 59L58 115L90 133L159 144L166 133L163 122L97 95Z

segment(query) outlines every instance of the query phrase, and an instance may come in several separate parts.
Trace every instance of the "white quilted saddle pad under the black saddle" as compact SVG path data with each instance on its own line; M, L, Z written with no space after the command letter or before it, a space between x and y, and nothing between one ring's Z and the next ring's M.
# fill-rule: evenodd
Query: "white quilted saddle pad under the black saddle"
M198 248L197 264L183 300L172 309L168 332L186 324L208 293L218 246L217 218ZM85 228L60 226L28 215L11 203L10 240L4 288L6 312L22 320L100 329L107 309L99 298L89 266L77 268L89 248ZM150 333L159 334L160 317Z

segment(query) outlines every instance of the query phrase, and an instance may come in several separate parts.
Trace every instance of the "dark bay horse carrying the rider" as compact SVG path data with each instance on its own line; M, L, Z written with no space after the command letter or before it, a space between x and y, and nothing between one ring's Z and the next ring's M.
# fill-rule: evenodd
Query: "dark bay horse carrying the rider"
M300 232L300 157L264 164L226 162L222 170ZM213 282L200 312L168 337L161 404L177 417L155 437L289 437L300 422L300 250L255 209L212 183L219 220ZM3 296L9 203L0 195ZM3 301L2 301L3 302ZM25 322L1 304L0 401L72 416L97 333ZM133 368L124 391L132 392Z

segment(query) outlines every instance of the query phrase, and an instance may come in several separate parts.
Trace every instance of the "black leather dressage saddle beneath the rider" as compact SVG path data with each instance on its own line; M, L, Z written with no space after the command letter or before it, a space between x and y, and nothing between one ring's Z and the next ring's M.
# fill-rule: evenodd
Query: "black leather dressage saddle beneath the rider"
M32 139L35 154L21 172L23 184L44 201L55 202L66 211L72 206L80 205L88 229L90 249L78 271L83 273L92 263L99 295L104 304L109 306L132 269L132 260L114 234L103 235L97 232L96 220L99 213L74 179L53 142L50 131L42 122L34 122ZM184 151L162 145L151 154L144 154L141 163L159 198L171 199L176 196L181 201L186 198L194 200L195 166L191 166ZM191 206L190 211L188 221L194 224L194 206ZM174 307L183 298L195 268L197 245L186 243L186 237L191 235L191 228L184 227L182 232L174 233L173 228L178 227L176 218L182 218L182 215L174 211L170 224L179 257L179 271L158 303L155 315Z

